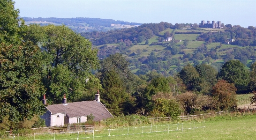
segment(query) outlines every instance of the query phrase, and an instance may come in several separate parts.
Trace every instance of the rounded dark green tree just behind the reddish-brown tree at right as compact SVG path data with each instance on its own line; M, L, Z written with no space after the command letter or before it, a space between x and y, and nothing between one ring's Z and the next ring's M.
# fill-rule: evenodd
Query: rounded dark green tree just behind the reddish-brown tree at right
M242 92L247 89L249 82L249 71L245 69L245 66L239 60L229 60L219 71L218 79L223 79L229 83L234 83L238 92Z

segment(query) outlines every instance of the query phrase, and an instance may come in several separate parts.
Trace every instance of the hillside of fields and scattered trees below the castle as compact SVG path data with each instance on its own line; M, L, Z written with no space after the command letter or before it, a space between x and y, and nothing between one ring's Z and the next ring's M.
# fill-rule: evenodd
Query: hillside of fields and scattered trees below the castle
M239 59L249 69L256 59L256 29L241 26L211 29L160 22L81 35L98 48L100 59L126 55L135 74L157 71L168 76L187 64L209 64L220 70L231 59ZM166 41L168 37L172 40Z

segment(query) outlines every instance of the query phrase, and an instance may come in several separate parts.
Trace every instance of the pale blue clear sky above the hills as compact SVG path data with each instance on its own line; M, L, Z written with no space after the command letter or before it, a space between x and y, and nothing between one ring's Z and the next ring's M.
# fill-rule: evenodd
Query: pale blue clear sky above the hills
M13 0L21 17L93 17L139 23L202 20L256 26L256 0Z

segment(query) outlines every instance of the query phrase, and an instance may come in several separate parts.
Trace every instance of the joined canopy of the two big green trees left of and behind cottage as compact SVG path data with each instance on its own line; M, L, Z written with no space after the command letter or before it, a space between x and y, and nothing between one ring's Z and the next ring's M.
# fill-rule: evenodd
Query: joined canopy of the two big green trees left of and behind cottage
M66 26L26 26L18 13L12 0L0 0L0 125L9 128L42 115L45 93L48 103L60 103L64 93L79 101L100 87L89 40Z

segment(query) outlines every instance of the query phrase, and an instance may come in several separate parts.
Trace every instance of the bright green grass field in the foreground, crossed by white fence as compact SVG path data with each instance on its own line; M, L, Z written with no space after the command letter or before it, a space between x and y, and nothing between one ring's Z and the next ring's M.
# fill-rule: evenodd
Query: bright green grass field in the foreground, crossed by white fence
M197 125L202 122L202 125ZM183 125L181 125L183 123ZM252 113L230 113L222 116L211 117L198 121L183 121L179 122L179 130L177 129L177 122L173 125L169 122L169 126L165 123L162 125L150 124L142 125L143 127L128 128L119 127L111 128L109 137L109 127L101 129L101 131L93 134L84 133L65 133L65 134L36 134L35 137L16 137L15 140L255 140L256 137L256 115ZM144 127L146 126L146 127ZM198 126L197 129L193 129ZM183 131L181 130L183 127ZM192 129L186 129L192 128ZM184 130L185 129L185 130ZM97 129L96 129L97 130ZM152 133L148 133L152 130ZM169 131L168 130L173 130ZM159 131L159 132L156 132ZM3 140L10 140L3 139Z

